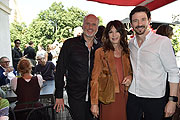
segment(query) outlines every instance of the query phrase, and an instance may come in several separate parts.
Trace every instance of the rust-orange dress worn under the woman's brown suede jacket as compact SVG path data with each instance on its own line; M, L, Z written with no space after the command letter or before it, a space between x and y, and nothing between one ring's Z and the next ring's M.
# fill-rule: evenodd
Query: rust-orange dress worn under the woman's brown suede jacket
M122 85L123 76L123 65L121 57L114 58L118 79L119 79L119 89L120 92L115 94L115 102L105 105L100 104L100 120L126 120L126 103L128 93L125 92L124 85Z

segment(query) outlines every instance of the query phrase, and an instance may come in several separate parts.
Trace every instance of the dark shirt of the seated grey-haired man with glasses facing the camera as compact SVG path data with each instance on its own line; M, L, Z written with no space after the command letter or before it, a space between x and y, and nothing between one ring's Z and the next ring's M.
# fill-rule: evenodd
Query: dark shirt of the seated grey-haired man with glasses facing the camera
M44 80L54 80L55 65L51 61L47 61L45 66L38 64L34 73L40 73Z

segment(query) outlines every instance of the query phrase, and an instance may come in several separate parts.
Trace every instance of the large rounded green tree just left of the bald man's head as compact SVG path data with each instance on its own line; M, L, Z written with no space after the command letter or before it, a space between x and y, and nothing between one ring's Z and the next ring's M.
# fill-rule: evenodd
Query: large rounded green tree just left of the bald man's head
M38 18L29 25L29 38L44 47L55 40L67 39L73 36L73 30L81 26L87 12L79 8L65 9L62 3L54 2L49 9L41 11Z

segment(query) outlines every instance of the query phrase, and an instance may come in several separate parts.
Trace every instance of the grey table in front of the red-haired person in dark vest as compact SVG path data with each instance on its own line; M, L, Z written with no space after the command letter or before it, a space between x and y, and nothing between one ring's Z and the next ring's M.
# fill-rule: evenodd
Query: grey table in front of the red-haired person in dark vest
M51 104L54 104L54 91L55 81L45 81L40 91L40 98L50 98ZM17 96L12 90L8 90L6 91L6 99L11 103L17 100Z

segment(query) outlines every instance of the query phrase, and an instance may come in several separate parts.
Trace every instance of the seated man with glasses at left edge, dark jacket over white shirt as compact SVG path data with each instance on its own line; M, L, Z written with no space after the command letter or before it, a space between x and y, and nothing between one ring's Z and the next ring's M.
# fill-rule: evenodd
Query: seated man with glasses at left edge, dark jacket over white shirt
M10 83L10 80L16 75L14 68L10 67L9 63L7 57L0 58L0 86Z

